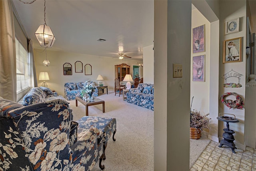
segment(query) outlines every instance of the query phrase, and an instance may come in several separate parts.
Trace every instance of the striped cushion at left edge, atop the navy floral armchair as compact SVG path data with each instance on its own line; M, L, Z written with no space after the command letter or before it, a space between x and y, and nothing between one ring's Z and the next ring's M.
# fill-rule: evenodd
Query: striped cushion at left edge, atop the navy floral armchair
M6 116L10 110L20 107L23 107L23 105L0 97L0 116Z

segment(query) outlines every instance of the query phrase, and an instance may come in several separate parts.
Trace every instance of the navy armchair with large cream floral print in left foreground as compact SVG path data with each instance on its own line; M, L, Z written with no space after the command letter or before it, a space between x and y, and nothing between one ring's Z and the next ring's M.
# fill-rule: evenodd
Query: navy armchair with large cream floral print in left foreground
M1 111L10 104L0 98ZM96 127L76 131L63 99L12 109L0 116L0 127L0 170L92 170L102 148Z

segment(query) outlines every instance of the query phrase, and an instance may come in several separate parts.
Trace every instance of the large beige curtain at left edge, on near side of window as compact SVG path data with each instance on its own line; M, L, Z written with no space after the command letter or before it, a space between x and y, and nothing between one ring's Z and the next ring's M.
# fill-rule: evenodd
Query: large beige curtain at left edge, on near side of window
M16 101L16 50L12 5L0 0L0 96Z

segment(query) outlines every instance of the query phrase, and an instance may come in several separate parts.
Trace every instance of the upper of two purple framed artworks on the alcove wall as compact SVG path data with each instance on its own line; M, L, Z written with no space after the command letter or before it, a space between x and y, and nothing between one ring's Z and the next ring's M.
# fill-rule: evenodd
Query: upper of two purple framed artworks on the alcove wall
M192 29L193 54L204 52L204 25Z

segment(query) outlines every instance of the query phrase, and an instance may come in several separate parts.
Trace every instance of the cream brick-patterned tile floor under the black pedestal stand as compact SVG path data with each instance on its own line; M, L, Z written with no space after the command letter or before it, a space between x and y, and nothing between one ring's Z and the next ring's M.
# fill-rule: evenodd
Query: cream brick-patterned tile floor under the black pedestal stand
M190 171L256 171L256 149L235 149L211 141L198 157Z

